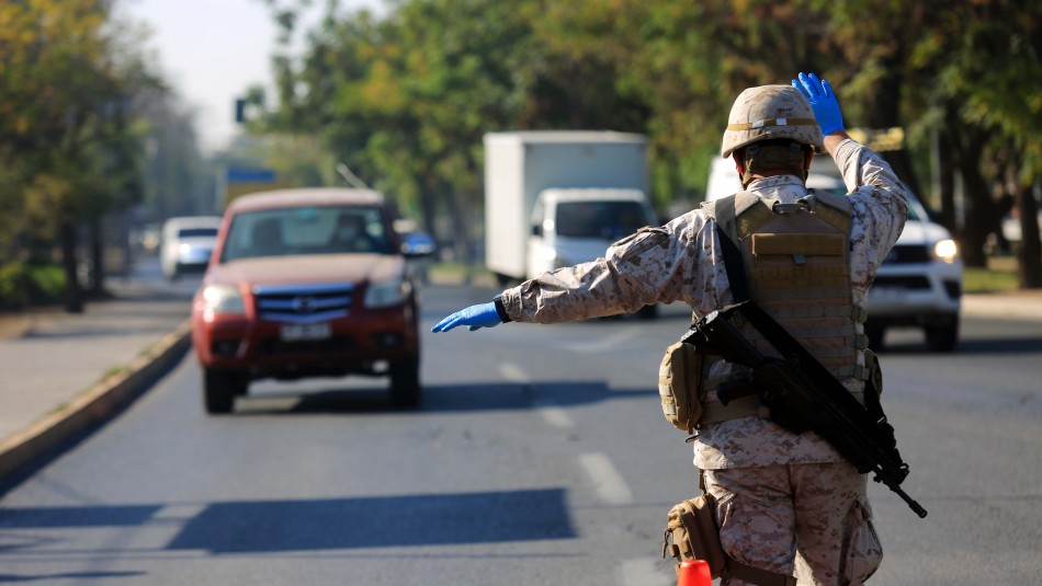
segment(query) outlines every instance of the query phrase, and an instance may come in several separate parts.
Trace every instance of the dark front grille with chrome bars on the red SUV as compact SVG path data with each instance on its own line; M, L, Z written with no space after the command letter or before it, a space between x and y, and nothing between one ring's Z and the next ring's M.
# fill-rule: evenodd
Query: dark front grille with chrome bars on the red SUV
M352 283L321 285L258 285L257 314L263 320L310 323L343 318L350 312Z

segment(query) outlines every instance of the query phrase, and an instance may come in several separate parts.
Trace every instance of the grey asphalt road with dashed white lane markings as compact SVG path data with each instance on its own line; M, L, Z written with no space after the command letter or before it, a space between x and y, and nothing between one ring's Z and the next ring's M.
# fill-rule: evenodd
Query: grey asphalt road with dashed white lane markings
M424 331L491 292L426 288ZM190 355L0 499L0 582L675 584L666 513L698 489L655 388L687 315L662 313L428 333L415 412L384 380L320 379L208 417ZM1042 323L963 330L953 355L888 333L884 404L929 517L870 486L873 585L1042 574Z

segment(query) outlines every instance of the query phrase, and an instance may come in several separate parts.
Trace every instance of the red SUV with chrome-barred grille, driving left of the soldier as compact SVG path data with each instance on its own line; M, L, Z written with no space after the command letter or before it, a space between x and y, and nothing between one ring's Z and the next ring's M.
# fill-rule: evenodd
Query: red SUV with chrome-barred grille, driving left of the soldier
M395 404L420 401L416 289L381 194L285 189L225 211L192 301L208 413L250 381L389 376Z

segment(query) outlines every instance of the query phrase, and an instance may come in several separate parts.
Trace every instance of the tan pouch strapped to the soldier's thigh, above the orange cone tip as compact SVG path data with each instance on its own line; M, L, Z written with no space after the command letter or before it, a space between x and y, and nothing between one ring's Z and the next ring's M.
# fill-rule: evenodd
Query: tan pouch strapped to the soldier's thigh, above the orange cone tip
M673 505L662 536L662 558L668 552L677 563L703 560L712 577L718 577L727 558L720 544L720 530L713 517L715 508L716 501L707 493Z

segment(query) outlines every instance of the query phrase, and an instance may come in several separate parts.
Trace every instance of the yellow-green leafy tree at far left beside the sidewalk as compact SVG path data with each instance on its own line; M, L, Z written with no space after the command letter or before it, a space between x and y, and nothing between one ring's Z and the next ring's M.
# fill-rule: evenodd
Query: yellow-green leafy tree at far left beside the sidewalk
M26 0L0 4L0 168L16 183L3 197L29 214L0 226L3 241L58 238L68 287L67 309L81 311L78 226L133 199L127 158L133 96L155 85L133 45L117 36L106 0ZM127 172L124 172L127 171ZM42 205L43 204L43 205ZM26 220L41 207L53 221ZM9 244L15 258L18 246Z

